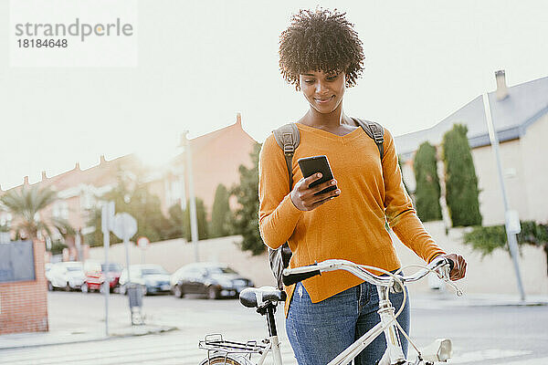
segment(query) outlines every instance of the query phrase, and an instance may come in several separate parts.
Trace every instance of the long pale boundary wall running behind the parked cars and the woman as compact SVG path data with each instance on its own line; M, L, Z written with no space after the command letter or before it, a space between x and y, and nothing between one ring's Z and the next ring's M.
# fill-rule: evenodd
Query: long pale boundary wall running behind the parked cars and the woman
M461 243L463 229L451 229L449 235L445 235L442 222L430 222L425 224L425 227L443 249L447 252L457 252L467 259L467 277L458 281L458 286L464 289L465 293L517 295L518 289L511 258L506 252L495 251L492 255L482 258L468 245ZM274 278L270 273L268 256L266 254L253 256L240 251L236 244L240 239L239 236L230 236L199 241L200 257L203 261L229 264L243 276L253 279L257 286L273 286ZM421 263L422 260L402 245L397 238L395 238L395 247L404 266ZM111 261L125 264L123 245L113 245L109 255ZM132 264L141 262L139 248L132 247L131 256ZM102 260L103 257L102 247L90 248L90 258ZM147 249L146 262L160 264L173 273L180 266L194 262L194 247L191 244L186 244L184 240L155 243ZM520 265L525 292L529 295L548 294L546 257L543 250L532 246L524 247ZM409 269L406 273L411 273L414 270ZM429 290L427 280L416 283L410 287L410 290L412 292L427 292Z

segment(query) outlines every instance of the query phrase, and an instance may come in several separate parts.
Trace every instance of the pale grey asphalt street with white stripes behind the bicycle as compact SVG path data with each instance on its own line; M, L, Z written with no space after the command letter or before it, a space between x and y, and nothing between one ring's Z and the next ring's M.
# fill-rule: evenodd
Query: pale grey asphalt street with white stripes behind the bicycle
M111 324L129 322L127 298L112 295L110 303ZM463 307L443 302L425 306L424 301L414 307L413 303L412 339L419 347L439 337L452 339L450 363L548 364L548 307ZM162 296L145 297L143 304L148 322L179 329L161 335L0 350L0 364L196 364L205 357L197 342L207 333L222 332L236 340L267 335L264 318L235 299ZM284 363L294 364L279 309ZM52 331L100 330L104 299L93 293L49 293L49 321Z

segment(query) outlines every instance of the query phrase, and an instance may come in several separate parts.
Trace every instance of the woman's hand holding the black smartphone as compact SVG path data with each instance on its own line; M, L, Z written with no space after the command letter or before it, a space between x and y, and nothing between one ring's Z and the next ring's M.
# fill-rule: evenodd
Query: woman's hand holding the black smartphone
M293 205L295 205L297 209L299 209L300 211L311 211L319 207L321 204L327 203L333 198L341 195L341 189L336 189L332 192L314 195L315 193L321 192L325 188L337 184L337 181L333 179L314 187L309 187L311 183L320 179L321 172L318 172L307 177L306 179L300 179L300 181L295 184L295 187L290 193L290 198L291 202L293 202Z

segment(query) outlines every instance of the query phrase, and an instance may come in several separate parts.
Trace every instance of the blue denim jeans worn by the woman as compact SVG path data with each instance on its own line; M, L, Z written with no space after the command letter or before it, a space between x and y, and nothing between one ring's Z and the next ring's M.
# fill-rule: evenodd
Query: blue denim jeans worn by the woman
M390 301L395 312L401 307L403 293L391 293ZM408 298L408 297L407 297ZM299 365L325 365L353 344L379 321L379 298L376 287L367 282L351 287L312 303L301 283L293 292L286 330ZM397 318L409 333L409 303ZM404 354L407 340L400 335ZM386 349L382 333L354 360L358 365L374 365L381 360Z

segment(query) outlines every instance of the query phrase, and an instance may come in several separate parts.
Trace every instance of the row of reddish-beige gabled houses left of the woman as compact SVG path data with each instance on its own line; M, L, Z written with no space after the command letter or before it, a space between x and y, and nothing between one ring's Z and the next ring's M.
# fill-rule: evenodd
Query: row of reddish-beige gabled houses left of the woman
M189 142L193 157L195 196L204 200L210 214L217 185L223 183L230 187L239 182L238 167L240 164L251 163L249 153L256 141L242 129L241 116L237 113L234 124ZM173 161L166 161L163 166L151 169L145 168L134 154L111 161L101 156L100 163L89 169L81 170L79 163L76 163L74 169L56 176L47 177L46 172L42 172L40 182L33 185L47 186L58 192L58 201L41 214L67 219L69 224L81 229L82 234L86 235L95 229L87 226L89 209L100 205L97 197L116 186L120 175L126 175L130 180L139 175L141 182L148 185L149 191L160 198L164 214L175 203L182 203L182 200L185 202L184 197L188 196L184 190L185 162L182 153ZM26 176L24 183L13 189L21 189L28 184ZM0 195L3 193L0 189ZM0 225L9 225L12 219L10 214L0 211Z

